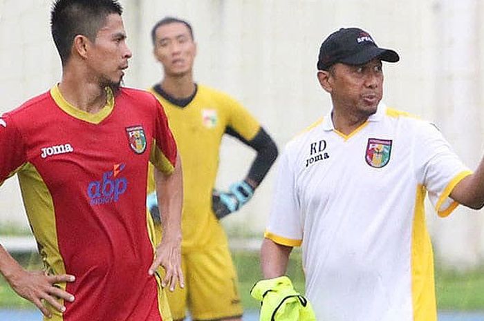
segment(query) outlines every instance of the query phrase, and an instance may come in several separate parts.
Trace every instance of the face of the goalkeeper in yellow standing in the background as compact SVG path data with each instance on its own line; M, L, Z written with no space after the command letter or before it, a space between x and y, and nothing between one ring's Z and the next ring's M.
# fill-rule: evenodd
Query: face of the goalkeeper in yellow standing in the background
M159 26L155 32L154 55L163 65L165 75L180 77L192 73L196 43L185 23Z

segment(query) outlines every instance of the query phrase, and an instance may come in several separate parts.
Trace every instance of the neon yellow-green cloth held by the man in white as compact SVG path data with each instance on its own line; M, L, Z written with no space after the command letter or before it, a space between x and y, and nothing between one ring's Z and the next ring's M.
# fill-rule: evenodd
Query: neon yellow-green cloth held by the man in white
M257 282L250 295L261 301L260 321L316 321L310 302L287 276Z

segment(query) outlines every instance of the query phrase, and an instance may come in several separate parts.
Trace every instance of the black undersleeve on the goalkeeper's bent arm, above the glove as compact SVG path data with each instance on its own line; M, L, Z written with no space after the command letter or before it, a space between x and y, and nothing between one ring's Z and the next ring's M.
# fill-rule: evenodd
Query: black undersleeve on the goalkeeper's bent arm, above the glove
M255 157L254 162L252 162L252 166L250 166L247 177L254 182L257 182L257 185L259 185L264 177L266 177L270 166L272 166L277 158L279 152L277 151L276 143L262 127L250 142L230 126L225 128L225 133L239 139L244 144L256 150L257 156Z

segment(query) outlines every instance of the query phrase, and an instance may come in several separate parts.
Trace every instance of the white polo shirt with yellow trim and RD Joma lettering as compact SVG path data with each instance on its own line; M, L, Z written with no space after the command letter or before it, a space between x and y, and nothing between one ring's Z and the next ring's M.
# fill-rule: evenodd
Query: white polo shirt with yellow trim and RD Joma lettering
M351 135L331 113L286 146L265 236L302 245L318 321L436 321L424 198L471 172L438 129L383 104Z

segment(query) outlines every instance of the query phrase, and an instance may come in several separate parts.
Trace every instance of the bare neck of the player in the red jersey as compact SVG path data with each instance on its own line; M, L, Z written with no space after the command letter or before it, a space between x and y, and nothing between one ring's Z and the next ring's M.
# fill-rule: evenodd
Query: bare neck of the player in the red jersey
M106 106L106 90L99 84L64 70L59 91L69 104L87 113L95 114Z

